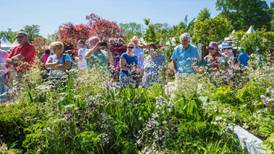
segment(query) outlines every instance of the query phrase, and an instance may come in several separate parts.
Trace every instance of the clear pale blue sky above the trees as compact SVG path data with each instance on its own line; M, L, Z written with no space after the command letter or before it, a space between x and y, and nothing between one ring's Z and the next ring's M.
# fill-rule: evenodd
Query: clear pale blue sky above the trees
M202 8L208 8L212 16L218 14L215 0L0 0L0 4L0 31L37 24L43 36L65 22L86 23L90 13L118 23L143 23L150 18L171 25L183 21L185 15L196 17Z

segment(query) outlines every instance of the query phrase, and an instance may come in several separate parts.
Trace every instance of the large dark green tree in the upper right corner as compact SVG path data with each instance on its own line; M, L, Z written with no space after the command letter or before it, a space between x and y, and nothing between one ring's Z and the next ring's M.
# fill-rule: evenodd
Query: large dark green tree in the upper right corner
M270 29L271 14L265 0L217 0L216 7L236 30L247 30L251 25Z

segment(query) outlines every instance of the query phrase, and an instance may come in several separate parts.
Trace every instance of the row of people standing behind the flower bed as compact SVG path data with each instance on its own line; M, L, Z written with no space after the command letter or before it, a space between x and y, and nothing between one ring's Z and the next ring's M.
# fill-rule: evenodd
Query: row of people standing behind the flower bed
M18 32L18 46L10 51L0 50L0 96L6 101L5 93L13 80L20 80L22 75L35 64L36 50L29 43L28 34ZM220 69L223 64L244 67L248 65L249 55L244 48L235 52L230 40L223 43L210 42L208 54L202 58L199 50L191 44L191 36L183 33L181 43L173 50L171 57L165 57L160 52L161 46L148 44L141 46L139 38L134 36L128 44L122 38L102 41L99 37L79 40L77 53L74 55L65 50L62 42L52 42L39 57L47 79L63 78L67 70L75 67L80 72L92 68L107 70L112 74L112 80L121 86L149 87L153 83L163 83L163 72L168 59L171 58L175 75L197 72L193 65L203 62L212 72ZM147 54L145 54L147 51Z

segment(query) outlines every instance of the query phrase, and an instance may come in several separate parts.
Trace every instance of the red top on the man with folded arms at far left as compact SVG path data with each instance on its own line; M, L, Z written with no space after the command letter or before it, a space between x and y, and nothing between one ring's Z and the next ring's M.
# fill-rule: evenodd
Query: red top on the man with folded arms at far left
M18 54L21 54L24 58L27 64L16 64L14 67L20 67L17 68L18 71L23 71L24 69L28 69L31 67L31 65L35 62L35 56L36 51L33 45L26 43L23 46L17 46L11 50L11 53L9 55L9 58L12 58ZM24 63L22 62L22 63Z

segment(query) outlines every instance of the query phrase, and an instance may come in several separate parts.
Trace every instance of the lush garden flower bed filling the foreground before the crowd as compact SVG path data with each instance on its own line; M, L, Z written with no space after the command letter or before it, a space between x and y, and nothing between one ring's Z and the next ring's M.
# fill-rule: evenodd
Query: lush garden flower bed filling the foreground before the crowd
M106 87L108 76L103 73L69 76L65 85L55 87L41 85L40 78L32 75L33 80L21 85L16 102L0 106L1 141L6 149L19 153L247 153L227 129L227 123L235 123L263 139L267 152L272 150L269 87L273 76L268 68L248 73L248 82L237 89L217 87L199 74L178 78L165 88L157 84L147 89ZM260 95L270 101L265 104Z

